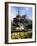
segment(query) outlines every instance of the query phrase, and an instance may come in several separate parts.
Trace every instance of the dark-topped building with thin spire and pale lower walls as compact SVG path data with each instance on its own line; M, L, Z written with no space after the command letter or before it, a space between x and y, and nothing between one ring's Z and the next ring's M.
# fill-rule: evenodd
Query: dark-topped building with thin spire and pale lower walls
M22 24L26 19L26 15L20 16L19 11L18 14L16 16L16 18L14 18L15 23L17 23L17 27L16 30L24 30L24 25Z

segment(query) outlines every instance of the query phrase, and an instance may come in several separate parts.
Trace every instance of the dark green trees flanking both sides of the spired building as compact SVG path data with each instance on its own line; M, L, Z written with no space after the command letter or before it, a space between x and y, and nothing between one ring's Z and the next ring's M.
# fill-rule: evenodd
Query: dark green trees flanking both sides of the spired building
M32 20L28 20L28 19L23 19L21 20L22 24L24 26L24 30L27 30L28 25L32 24ZM20 23L21 24L21 23ZM16 21L16 19L14 19L13 21L11 21L11 31L15 30L16 27L19 27L20 25L18 25L18 22ZM32 26L32 25L31 25Z

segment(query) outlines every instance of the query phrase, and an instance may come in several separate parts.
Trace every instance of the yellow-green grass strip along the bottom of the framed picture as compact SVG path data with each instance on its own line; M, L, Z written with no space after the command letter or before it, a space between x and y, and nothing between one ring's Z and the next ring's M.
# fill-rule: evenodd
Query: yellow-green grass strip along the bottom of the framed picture
M32 38L32 32L13 32L11 33L11 39L28 39Z

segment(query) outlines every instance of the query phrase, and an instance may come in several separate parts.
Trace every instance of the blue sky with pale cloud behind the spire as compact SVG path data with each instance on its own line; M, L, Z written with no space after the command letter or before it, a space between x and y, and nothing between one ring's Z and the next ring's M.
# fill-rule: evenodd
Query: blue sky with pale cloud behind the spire
M21 16L26 15L28 19L32 19L32 7L11 6L11 19L12 20L18 14L18 10Z

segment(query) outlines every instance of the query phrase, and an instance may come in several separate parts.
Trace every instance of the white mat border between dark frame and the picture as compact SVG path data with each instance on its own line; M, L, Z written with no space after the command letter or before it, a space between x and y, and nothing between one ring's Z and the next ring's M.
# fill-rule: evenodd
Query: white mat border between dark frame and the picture
M32 21L33 21L33 29L32 29L32 39L18 39L18 40L12 40L11 39L11 6L21 6L21 7L32 7ZM8 25L9 25L9 27L8 27L8 30L9 30L9 32L8 32L8 42L10 43L10 42L31 42L31 41L35 41L35 5L26 5L26 4L8 4Z

